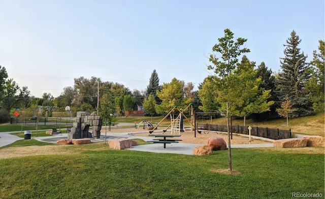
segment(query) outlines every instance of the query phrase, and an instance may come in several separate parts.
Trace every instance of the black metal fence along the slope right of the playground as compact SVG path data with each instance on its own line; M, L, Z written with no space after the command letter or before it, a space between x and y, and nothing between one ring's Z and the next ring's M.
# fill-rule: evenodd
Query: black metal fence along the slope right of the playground
M236 134L244 134L248 135L248 126L229 126L230 132L234 132ZM198 129L201 130L215 130L221 132L227 132L227 125L218 125L218 124L198 124ZM291 129L282 130L275 128L262 128L262 127L252 127L250 134L252 136L258 136L262 138L269 138L272 140L280 140L291 138Z

